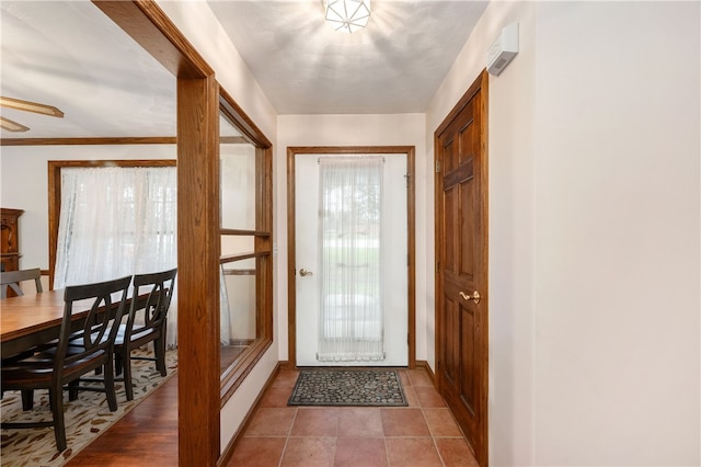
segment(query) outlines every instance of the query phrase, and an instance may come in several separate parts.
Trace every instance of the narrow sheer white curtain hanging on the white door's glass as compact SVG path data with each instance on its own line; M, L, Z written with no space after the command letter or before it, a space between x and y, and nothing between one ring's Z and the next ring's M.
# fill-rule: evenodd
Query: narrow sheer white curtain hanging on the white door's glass
M320 158L320 361L384 358L381 157Z

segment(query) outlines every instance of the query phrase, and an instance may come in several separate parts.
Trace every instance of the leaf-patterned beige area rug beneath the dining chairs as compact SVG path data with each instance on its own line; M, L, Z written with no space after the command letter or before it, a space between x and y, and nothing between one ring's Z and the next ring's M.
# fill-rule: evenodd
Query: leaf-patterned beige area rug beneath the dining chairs
M139 350L135 355L138 353L146 354L146 351ZM68 394L65 392L64 409L68 447L61 453L56 451L53 428L1 430L0 465L18 467L65 465L176 373L177 351L172 350L165 353L165 366L168 375L162 377L153 362L131 361L134 400L126 400L124 381L115 381L117 391L115 412L110 411L105 395L102 392L80 391L78 399L70 402ZM0 402L0 409L3 422L50 420L51 418L46 390L35 391L34 408L31 411L22 411L22 398L18 391L5 392Z

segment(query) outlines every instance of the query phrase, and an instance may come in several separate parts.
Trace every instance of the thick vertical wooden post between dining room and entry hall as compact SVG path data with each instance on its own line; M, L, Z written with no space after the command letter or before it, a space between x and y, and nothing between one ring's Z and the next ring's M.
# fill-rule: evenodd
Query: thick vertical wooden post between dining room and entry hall
M181 466L219 458L219 90L177 80L179 436Z

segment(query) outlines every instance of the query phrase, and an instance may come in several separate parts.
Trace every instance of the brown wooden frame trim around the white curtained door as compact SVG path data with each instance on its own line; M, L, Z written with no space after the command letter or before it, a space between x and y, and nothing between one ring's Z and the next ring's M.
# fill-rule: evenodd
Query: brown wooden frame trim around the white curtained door
M414 146L288 146L287 147L287 362L297 367L297 281L295 280L295 157L297 155L381 155L405 153L409 186L406 191L407 223L407 327L409 368L416 367L416 208L415 208L415 152Z

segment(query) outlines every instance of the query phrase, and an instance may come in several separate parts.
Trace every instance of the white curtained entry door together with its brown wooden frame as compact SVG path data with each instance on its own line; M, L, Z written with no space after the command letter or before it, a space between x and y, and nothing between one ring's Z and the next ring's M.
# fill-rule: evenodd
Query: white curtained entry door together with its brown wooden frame
M338 209L324 206L329 200L320 202L329 173L347 164L342 161L355 164L360 159L376 161L370 166L377 167L355 175L364 180L359 191L352 195L346 186L342 197L366 204L378 195L380 190L369 190L365 180L379 170L382 209L392 216L386 217L381 228L356 218L345 232L336 231L337 226L329 230L324 223L333 223L333 214L319 214L322 208L325 213ZM415 366L413 176L413 147L288 148L290 366ZM332 187L331 194L338 190ZM375 248L380 244L380 230L381 250ZM343 252L344 260L335 258L347 243L354 244L353 250ZM324 260L324 255L331 258ZM384 270L388 264L393 272ZM358 288L353 288L349 277L359 281ZM378 292L380 286L384 292ZM348 317L354 320L347 321ZM360 353L348 356L343 341L359 342L361 349L354 352Z

